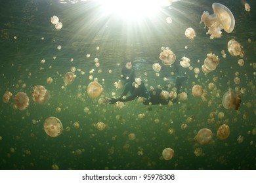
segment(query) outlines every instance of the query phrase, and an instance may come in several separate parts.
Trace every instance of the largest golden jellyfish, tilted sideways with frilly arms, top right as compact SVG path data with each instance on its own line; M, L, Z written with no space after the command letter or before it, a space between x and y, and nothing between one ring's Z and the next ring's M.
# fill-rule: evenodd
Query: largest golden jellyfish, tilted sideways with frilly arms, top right
M208 27L208 32L211 36L210 39L221 37L221 30L224 29L227 33L231 33L234 29L235 20L232 12L220 3L213 3L214 14L204 11L201 17L205 27Z

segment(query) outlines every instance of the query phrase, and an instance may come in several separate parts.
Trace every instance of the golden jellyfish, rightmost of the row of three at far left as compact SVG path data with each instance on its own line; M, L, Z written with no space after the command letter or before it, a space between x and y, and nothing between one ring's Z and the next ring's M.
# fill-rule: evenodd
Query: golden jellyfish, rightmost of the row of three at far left
M51 95L45 87L38 85L33 87L32 99L39 104L45 104L50 99Z

